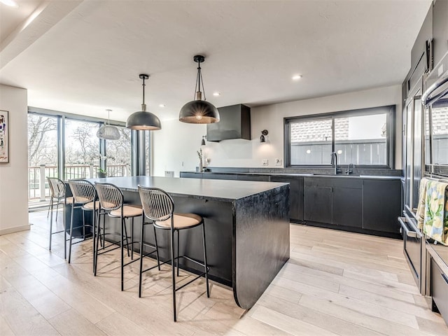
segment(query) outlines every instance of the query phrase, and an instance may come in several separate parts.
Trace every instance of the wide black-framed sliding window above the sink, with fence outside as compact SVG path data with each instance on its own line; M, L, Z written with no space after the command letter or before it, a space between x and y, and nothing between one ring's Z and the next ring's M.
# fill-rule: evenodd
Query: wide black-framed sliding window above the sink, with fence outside
M395 106L285 119L286 166L393 166Z

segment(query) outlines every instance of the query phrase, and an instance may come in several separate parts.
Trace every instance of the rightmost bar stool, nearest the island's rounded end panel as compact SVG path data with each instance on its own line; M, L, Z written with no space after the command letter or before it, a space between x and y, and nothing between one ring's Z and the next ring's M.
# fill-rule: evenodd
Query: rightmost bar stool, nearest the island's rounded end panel
M204 219L197 214L174 214L174 201L170 195L165 192L165 190L159 188L149 188L139 186L139 194L141 205L144 209L144 218L148 218L151 223L153 223L154 228L160 230L170 230L171 231L171 260L166 262L162 262L165 264L171 261L172 266L172 282L173 282L173 319L176 322L176 291L181 288L187 286L193 281L199 279L202 276L205 276L205 282L207 286L207 297L210 297L209 290L209 266L207 265L207 248L205 246L205 228L204 228ZM204 262L199 262L194 260L186 255L179 255L179 232L181 230L187 230L191 228L196 228L197 226L202 225L202 246L204 249ZM177 232L177 253L176 244L174 242L174 233ZM144 225L141 225L141 243L140 243L140 274L139 274L139 297L141 297L141 274L148 271L149 269L153 269L154 267L159 267L160 262L158 260L158 265L154 267L150 267L148 269L143 269L143 239L144 239ZM157 246L157 237L155 236L155 244ZM176 256L175 256L176 255ZM204 272L188 281L188 283L183 284L179 288L176 288L176 269L175 262L177 266L177 276L179 276L179 258L185 258L194 262L197 265L204 267Z

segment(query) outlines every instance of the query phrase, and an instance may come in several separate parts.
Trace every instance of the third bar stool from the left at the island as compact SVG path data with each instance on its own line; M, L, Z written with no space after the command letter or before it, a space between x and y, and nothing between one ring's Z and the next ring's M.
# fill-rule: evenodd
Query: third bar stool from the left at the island
M124 196L121 190L111 184L111 183L98 183L95 182L95 188L97 189L98 198L99 198L99 205L100 205L100 211L99 211L99 218L98 223L101 221L101 216L103 216L103 230L101 230L100 225L98 225L98 233L97 233L97 248L94 253L94 275L97 275L97 260L98 255L107 253L110 251L115 250L116 248L121 249L121 258L120 258L120 267L121 267L121 290L124 288L124 275L123 275L123 269L125 266L132 264L132 262L136 262L139 259L134 259L134 243L138 243L139 241L134 241L134 218L139 217L142 215L143 211L141 209L140 205L137 204L125 204L124 202ZM111 235L111 233L106 234L105 231L105 223L106 223L106 214L108 214L112 218L120 218L120 246L117 246L115 248L109 248L109 246L113 246L115 244L110 244L109 246L105 246L103 243L103 249L109 248L106 251L103 251L102 253L99 253L98 250L98 241L100 237L103 238L106 235ZM131 236L127 236L127 229L126 229L126 219L131 218ZM123 236L124 232L124 236ZM112 234L114 235L114 234ZM131 241L128 240L128 238L131 239ZM123 244L123 241L126 241L126 244ZM127 248L127 256L131 257L131 261L127 262L125 264L124 260L124 245L126 245ZM131 246L131 255L130 255L130 246Z

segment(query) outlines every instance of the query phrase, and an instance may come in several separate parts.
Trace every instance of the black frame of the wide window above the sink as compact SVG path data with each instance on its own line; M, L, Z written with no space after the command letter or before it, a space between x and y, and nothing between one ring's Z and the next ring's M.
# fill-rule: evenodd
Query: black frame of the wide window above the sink
M331 148L335 151L335 119L344 117L373 116L375 114L386 113L386 165L356 165L358 168L368 169L394 169L395 168L395 105L376 106L366 109L353 109L345 111L335 111L328 113L308 114L304 116L294 116L283 118L283 162L286 168L330 168L330 158L328 165L291 165L291 139L290 124L299 121L323 120L330 118L332 120ZM338 165L339 166L339 165ZM342 166L342 165L341 165Z

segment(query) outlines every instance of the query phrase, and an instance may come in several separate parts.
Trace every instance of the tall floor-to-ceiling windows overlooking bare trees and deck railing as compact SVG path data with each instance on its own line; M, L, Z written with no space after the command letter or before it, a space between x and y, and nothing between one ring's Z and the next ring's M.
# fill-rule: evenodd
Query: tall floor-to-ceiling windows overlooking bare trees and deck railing
M108 176L131 176L132 132L116 122L119 140L100 140L103 119L29 107L28 188L29 207L45 207L50 190L46 177L69 180L97 177L106 167ZM100 165L100 164L103 165Z

